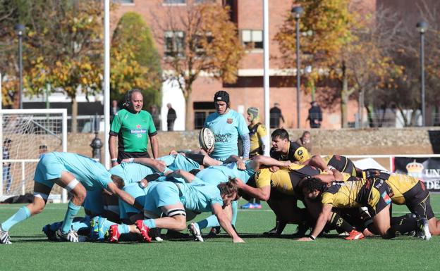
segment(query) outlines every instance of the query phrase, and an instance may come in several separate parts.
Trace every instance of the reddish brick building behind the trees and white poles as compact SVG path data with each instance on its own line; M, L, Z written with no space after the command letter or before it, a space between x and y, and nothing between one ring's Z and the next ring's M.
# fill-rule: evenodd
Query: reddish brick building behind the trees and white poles
M262 29L263 29L263 11L262 1L256 0L123 0L121 5L113 11L111 16L111 24L116 26L118 18L123 13L134 11L140 13L147 24L152 28L154 37L157 39L157 47L161 55L166 50L163 41L158 39L166 39L164 34L157 33L154 29L155 20L167 20L167 15L171 9L185 9L189 4L202 1L216 1L218 3L231 6L231 20L238 26L238 34L243 45L247 43L254 44L253 49L248 49L240 63L238 70L238 81L235 84L222 84L211 77L202 76L193 84L193 94L190 118L193 120L193 127L198 128L204 121L204 117L214 111L212 98L214 93L220 89L226 90L231 95L231 107L240 112L245 113L246 108L256 106L260 111L264 111L264 89L263 89L263 49L262 49ZM369 1L374 6L375 1ZM296 87L295 73L291 75L291 80L282 75L281 61L279 60L279 46L274 41L274 36L278 32L279 27L288 16L291 10L292 1L287 0L270 0L269 1L269 74L270 74L270 106L275 102L280 103L283 116L286 120L284 127L296 127ZM295 70L295 69L293 69ZM304 80L304 79L303 79ZM286 82L288 82L286 84ZM304 81L303 81L304 82ZM166 119L166 103L172 103L176 109L178 119L176 120L175 129L184 130L185 120L181 116L185 114L185 103L180 90L169 83L164 84L163 89L164 100L162 103L162 120ZM319 89L317 89L319 95ZM300 127L308 128L306 121L308 109L311 101L310 94L301 94L301 112ZM350 101L348 106L348 121L355 121L355 113L357 112L357 102ZM181 117L181 118L179 118ZM264 116L262 116L264 121ZM189 130L193 127L188 127ZM329 129L338 129L341 127L341 114L339 104L335 103L330 109L324 110L324 120L322 127Z

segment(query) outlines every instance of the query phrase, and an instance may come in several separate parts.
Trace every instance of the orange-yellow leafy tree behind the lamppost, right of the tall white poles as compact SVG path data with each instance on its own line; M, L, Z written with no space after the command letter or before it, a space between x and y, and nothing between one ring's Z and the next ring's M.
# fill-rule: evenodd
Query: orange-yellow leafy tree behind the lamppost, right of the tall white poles
M350 31L354 15L348 8L350 0L297 0L304 13L300 18L300 46L302 66L312 66L308 85L314 87L319 80L342 79L344 62L341 53L353 39ZM285 68L296 67L295 18L290 11L275 38L280 45ZM300 71L299 71L300 72ZM349 96L348 84L342 84L341 96ZM341 99L341 118L346 120L346 99ZM343 121L344 122L344 121Z

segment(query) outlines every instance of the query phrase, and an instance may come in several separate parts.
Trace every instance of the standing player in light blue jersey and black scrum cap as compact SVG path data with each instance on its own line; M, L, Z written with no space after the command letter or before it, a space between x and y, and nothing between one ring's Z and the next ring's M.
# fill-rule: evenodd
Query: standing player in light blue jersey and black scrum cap
M209 153L209 156L224 161L229 156L238 155L238 136L240 136L243 146L243 160L249 159L249 129L247 129L243 115L231 109L228 92L224 90L216 92L214 106L216 112L209 114L204 122L204 127L212 130L215 137L214 151ZM233 211L232 225L235 225L238 212L237 201L233 201L231 207ZM219 227L212 228L210 234L215 235L219 231Z

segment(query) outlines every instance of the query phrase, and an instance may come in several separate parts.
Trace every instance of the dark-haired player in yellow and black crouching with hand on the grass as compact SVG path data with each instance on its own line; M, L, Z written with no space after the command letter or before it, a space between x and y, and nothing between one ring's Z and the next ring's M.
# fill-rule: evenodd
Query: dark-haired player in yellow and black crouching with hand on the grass
M383 179L368 178L348 182L322 182L318 177L308 178L302 184L307 208L317 216L316 225L309 237L299 241L312 241L322 232L330 220L333 208L358 208L366 206L372 216L371 232L380 234L384 239L396 237L415 229L422 229L429 235L427 220L403 215L390 219L391 188ZM319 199L319 201L316 201ZM353 239L361 239L358 234Z

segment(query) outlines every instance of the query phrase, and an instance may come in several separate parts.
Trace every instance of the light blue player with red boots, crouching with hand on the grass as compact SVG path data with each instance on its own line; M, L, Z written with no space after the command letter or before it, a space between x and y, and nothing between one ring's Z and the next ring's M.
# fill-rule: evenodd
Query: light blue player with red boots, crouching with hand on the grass
M243 242L231 226L231 220L224 213L224 207L237 197L234 179L218 186L204 184L196 180L191 184L177 182L158 182L150 187L142 198L145 220L138 220L134 225L112 225L110 241L117 242L123 233L140 233L144 241L151 241L149 230L156 227L181 231L186 228L186 211L197 213L212 212L221 227L233 238L233 242ZM166 217L159 218L161 213ZM121 227L122 226L122 227Z

